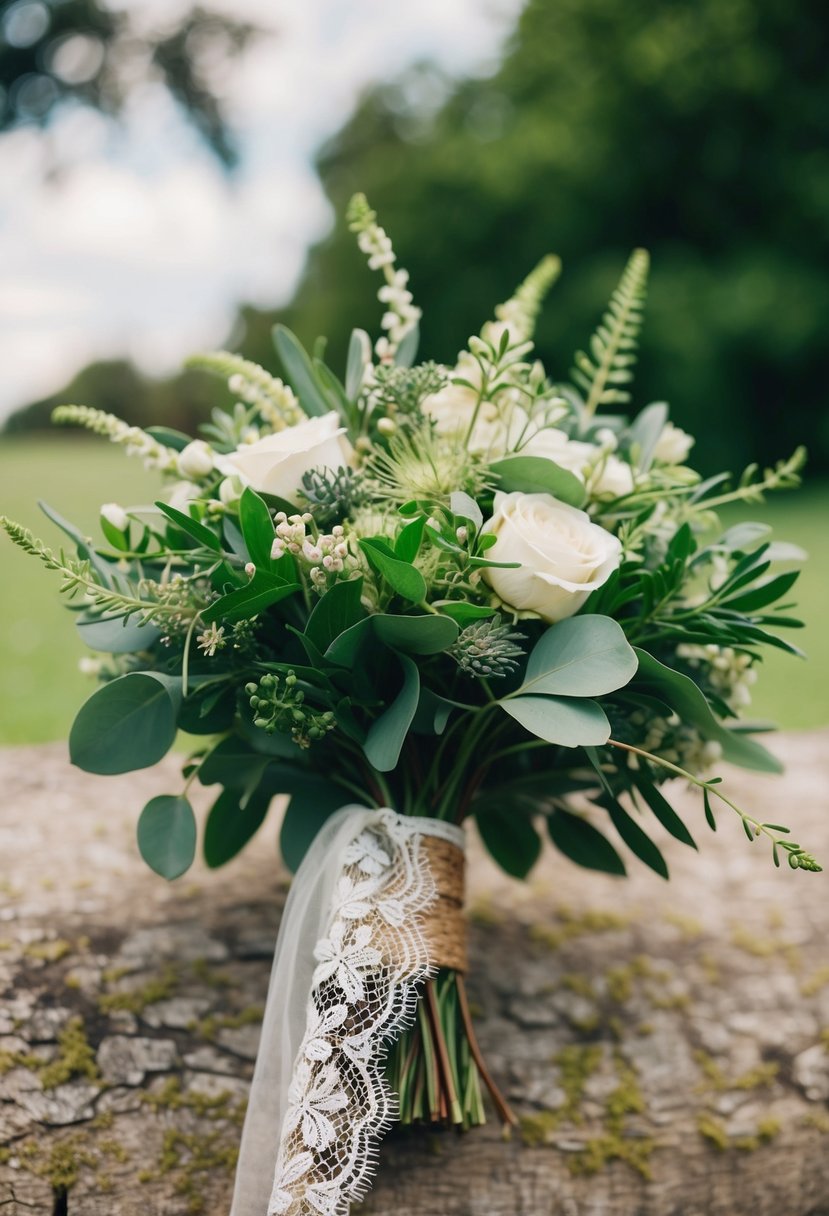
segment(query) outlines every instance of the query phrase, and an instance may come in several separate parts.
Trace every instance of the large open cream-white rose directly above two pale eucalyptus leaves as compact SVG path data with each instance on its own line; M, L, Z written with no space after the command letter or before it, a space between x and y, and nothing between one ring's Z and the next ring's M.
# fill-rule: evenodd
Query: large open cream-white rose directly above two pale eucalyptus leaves
M496 541L494 562L518 569L484 568L484 579L506 604L554 623L579 612L591 591L617 568L621 545L585 511L549 494L496 494L495 514L484 525Z

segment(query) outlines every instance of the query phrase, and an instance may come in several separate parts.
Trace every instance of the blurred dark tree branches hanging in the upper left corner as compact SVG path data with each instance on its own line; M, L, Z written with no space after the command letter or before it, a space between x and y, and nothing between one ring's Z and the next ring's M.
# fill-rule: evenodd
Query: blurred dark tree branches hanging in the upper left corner
M215 67L256 33L198 6L145 27L102 0L0 2L0 131L44 125L75 100L117 116L130 94L160 81L225 165L236 158L214 86Z

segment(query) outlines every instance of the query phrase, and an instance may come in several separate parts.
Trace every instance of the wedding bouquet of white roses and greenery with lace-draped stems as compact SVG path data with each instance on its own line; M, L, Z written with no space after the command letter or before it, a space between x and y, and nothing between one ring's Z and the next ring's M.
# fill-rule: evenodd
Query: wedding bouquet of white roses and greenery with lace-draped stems
M191 865L194 782L221 787L208 866L276 795L293 869L243 1137L235 1214L343 1214L387 1126L484 1121L490 1077L463 973L463 829L524 877L542 828L570 861L667 878L659 824L689 848L665 782L735 812L797 869L814 858L721 787L721 761L774 772L740 715L767 647L796 626L801 557L717 510L794 486L776 468L701 479L662 404L630 402L648 258L631 257L569 382L532 354L559 270L546 258L453 367L416 364L419 311L365 198L349 210L382 271L382 337L355 330L344 379L282 326L284 379L237 355L203 438L83 406L169 480L153 506L101 508L102 540L51 508L77 553L4 519L63 579L101 687L72 728L95 773L196 737L184 787L137 824L150 866ZM760 727L754 727L754 731ZM346 805L348 804L348 805ZM345 806L345 809L343 809ZM692 824L693 826L693 824ZM695 826L694 831L695 831ZM303 861L303 858L305 858Z

